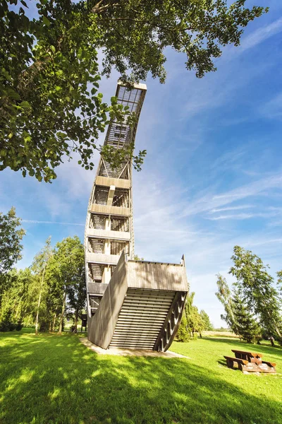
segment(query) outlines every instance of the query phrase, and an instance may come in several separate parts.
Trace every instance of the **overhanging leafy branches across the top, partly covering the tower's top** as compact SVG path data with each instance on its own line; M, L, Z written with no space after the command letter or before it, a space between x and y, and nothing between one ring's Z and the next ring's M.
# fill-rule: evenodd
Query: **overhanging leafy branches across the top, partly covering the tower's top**
M185 53L187 69L202 77L216 69L221 46L238 46L243 28L267 11L245 8L245 0L229 7L226 0L33 3L38 13L28 18L30 2L0 1L0 170L39 181L54 179L54 168L73 152L92 169L97 148L113 166L126 156L140 169L145 151L134 156L130 145L113 159L97 146L109 119L123 122L127 114L116 98L109 106L98 93L99 49L102 74L115 68L129 85L149 72L164 82L166 47Z

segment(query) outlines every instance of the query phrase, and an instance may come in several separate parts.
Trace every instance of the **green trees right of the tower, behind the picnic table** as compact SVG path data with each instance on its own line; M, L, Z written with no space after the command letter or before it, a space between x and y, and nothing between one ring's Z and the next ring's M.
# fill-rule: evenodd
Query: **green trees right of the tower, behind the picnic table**
M267 272L268 266L264 266L256 254L240 246L234 247L231 259L233 266L229 273L236 278L232 290L220 274L217 280L216 297L226 311L221 318L248 342L259 339L262 333L281 342L281 296L274 287L274 278Z

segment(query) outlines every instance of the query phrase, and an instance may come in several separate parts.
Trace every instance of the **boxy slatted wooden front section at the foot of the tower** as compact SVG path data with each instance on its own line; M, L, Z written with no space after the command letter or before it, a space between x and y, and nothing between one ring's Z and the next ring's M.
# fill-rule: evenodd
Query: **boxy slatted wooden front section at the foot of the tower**
M121 255L89 339L102 348L166 351L183 314L188 282L181 264L133 261Z

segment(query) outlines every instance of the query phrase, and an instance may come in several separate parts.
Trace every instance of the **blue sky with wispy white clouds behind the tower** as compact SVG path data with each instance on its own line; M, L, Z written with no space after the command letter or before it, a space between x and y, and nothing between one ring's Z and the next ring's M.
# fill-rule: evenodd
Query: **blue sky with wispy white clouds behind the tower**
M234 245L262 257L274 277L282 269L282 3L255 4L269 13L250 23L240 47L223 49L215 73L197 79L185 57L167 52L166 84L147 79L137 130L137 149L148 153L133 177L135 252L176 263L184 253L195 304L215 326L224 326L215 275L232 283ZM102 80L105 100L117 79ZM18 267L30 265L49 235L53 244L83 240L95 172L73 160L52 184L0 173L0 211L16 206L27 231Z

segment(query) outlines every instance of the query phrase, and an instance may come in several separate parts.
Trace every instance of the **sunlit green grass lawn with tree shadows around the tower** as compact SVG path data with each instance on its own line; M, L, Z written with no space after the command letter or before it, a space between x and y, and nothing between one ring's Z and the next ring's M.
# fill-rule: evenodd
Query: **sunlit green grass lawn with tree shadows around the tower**
M1 424L282 424L282 349L231 338L173 343L184 358L97 355L80 335L0 334ZM277 375L243 375L223 355L259 351Z

